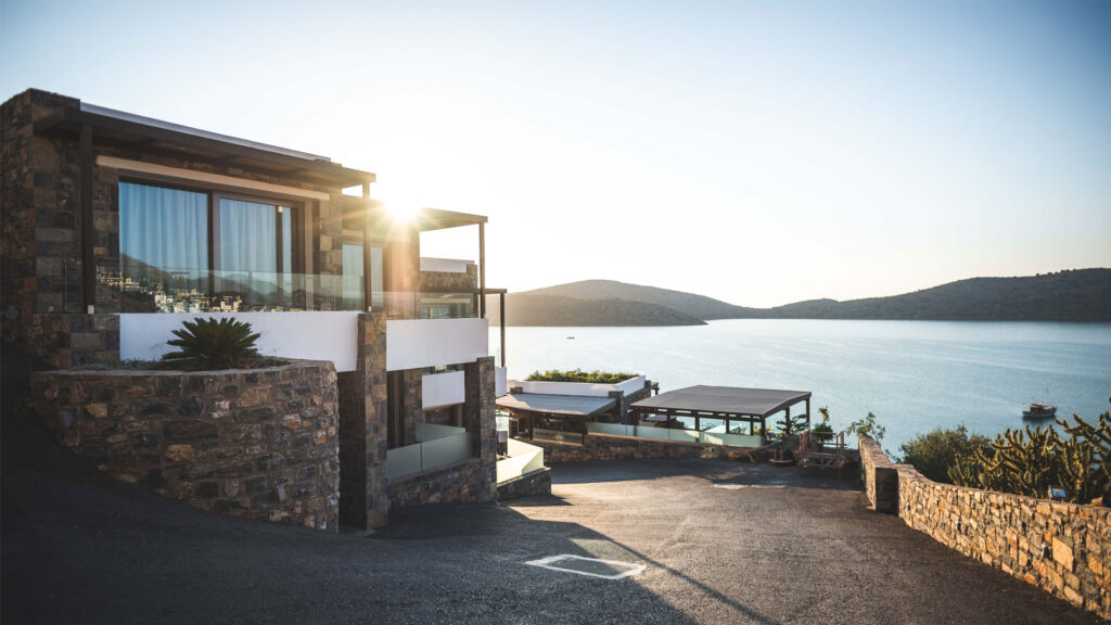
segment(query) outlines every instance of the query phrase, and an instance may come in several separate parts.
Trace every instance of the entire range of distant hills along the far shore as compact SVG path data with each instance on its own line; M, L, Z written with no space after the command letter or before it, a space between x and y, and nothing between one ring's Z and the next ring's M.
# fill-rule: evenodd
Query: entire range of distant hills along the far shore
M774 308L745 308L613 280L510 294L506 301L508 325L528 326L660 326L751 318L1111 321L1111 269L970 278L891 297L812 299ZM491 305L496 316L496 298Z

